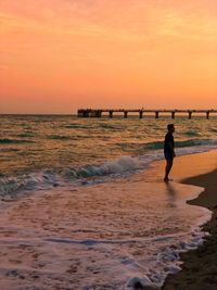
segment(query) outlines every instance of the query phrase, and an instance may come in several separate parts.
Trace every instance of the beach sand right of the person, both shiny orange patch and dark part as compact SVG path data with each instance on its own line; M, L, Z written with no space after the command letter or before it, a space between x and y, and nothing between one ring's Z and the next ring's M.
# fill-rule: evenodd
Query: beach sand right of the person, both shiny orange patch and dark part
M216 290L217 289L217 151L195 154L175 160L173 175L181 182L204 188L204 192L190 204L209 209L213 218L203 229L210 236L206 237L197 250L181 254L182 270L169 275L163 290ZM212 171L210 171L212 169ZM207 173L208 171L208 173ZM210 171L210 172L209 172ZM203 172L206 172L205 174ZM196 174L196 176L194 176ZM187 178L187 176L191 176Z

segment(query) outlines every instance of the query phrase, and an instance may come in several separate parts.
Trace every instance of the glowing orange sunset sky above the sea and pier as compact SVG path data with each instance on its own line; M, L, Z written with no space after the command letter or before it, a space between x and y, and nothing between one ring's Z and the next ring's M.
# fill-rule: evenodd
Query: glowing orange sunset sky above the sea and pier
M217 109L216 0L1 0L0 113Z

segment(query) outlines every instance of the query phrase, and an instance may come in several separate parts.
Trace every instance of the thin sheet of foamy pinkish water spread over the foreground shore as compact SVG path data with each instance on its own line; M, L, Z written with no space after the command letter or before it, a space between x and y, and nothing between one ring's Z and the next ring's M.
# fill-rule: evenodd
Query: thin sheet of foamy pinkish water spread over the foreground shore
M137 178L10 203L0 215L4 289L31 289L34 276L44 289L130 289L133 277L161 286L178 253L202 242L210 213L186 204L202 188Z

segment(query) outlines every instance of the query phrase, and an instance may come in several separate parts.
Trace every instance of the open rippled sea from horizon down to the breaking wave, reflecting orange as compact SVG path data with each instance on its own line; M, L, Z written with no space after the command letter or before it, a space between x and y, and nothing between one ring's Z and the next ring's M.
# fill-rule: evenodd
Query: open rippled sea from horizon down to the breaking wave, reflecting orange
M152 116L0 115L1 192L41 188L65 178L86 182L144 168L163 159L170 122ZM177 155L217 148L216 117L182 116L174 123Z

